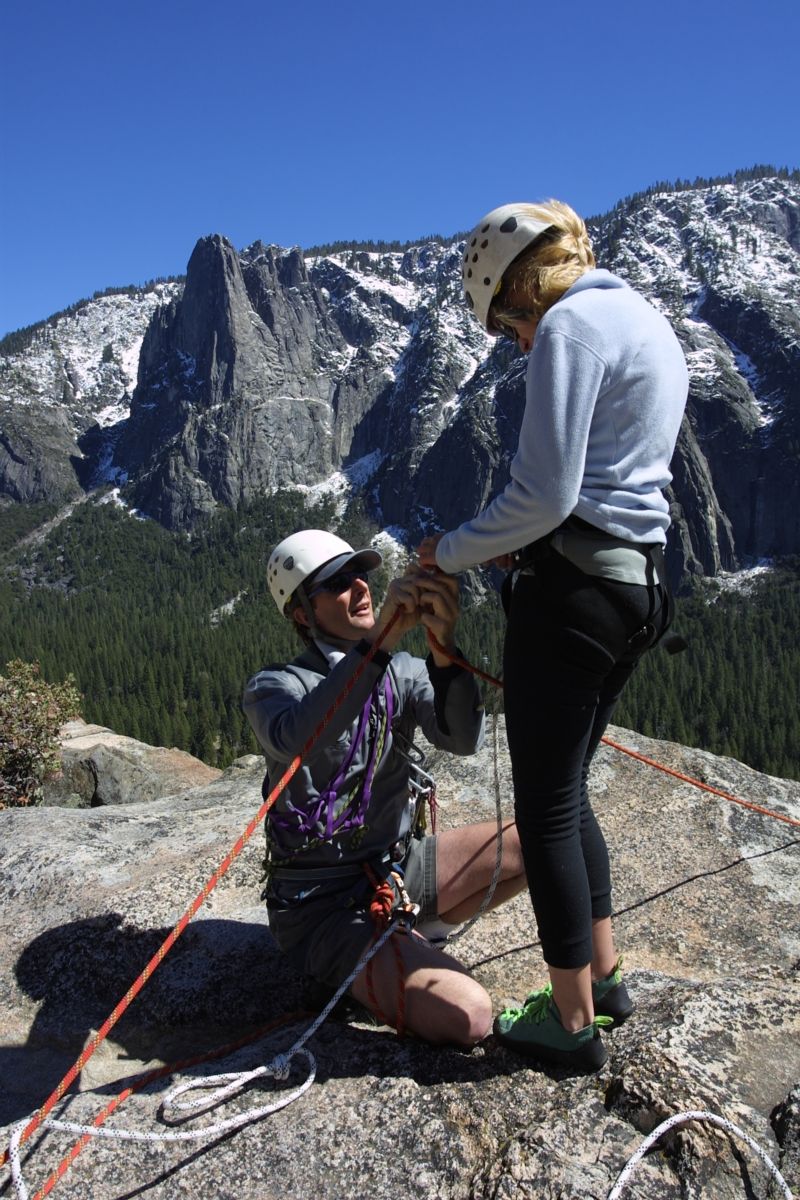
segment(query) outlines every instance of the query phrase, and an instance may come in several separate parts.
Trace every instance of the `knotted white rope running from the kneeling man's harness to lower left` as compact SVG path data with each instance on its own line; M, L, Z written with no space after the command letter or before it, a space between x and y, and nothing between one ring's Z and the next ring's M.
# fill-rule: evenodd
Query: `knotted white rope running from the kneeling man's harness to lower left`
M227 1121L219 1121L216 1124L205 1126L203 1129L187 1129L180 1133L139 1133L132 1129L104 1129L97 1128L96 1126L78 1124L73 1121L61 1121L54 1117L48 1117L42 1121L40 1128L58 1129L65 1133L79 1134L80 1136L88 1135L90 1138L110 1138L119 1141L203 1141L229 1133L231 1129L239 1129L242 1126L251 1124L264 1116L269 1116L270 1112L277 1112L278 1109L283 1109L288 1104L299 1099L314 1081L317 1075L317 1061L311 1050L305 1049L306 1042L313 1037L320 1025L326 1020L359 972L362 971L367 962L384 947L390 936L398 928L403 928L402 918L393 920L391 925L384 930L378 941L365 950L344 983L339 985L338 990L333 994L333 996L331 996L321 1013L314 1018L305 1033L297 1038L289 1050L284 1054L276 1055L275 1058L272 1058L272 1061L265 1067L257 1067L254 1070L240 1073L229 1072L222 1075L204 1075L199 1079L192 1079L185 1084L179 1084L164 1097L161 1105L161 1116L164 1121L178 1123L181 1120L188 1120L191 1116L198 1116L200 1112L206 1112L209 1109L224 1103L231 1096L242 1091L254 1079L260 1079L264 1075L272 1075L278 1081L287 1080L291 1068L291 1060L297 1054L302 1055L308 1062L308 1075L302 1084L294 1088L294 1091L285 1092L273 1103L265 1104L255 1109L248 1109L246 1112L240 1112L237 1116L228 1117ZM179 1096L184 1096L186 1092L194 1091L196 1088L213 1088L213 1091L209 1096L204 1096L198 1100L188 1103L185 1102L182 1104L176 1103L176 1098ZM16 1200L28 1200L28 1188L25 1187L22 1175L19 1153L22 1135L32 1120L32 1116L34 1115L25 1117L24 1121L19 1121L13 1127L8 1144L8 1163L11 1166L11 1180L14 1188Z

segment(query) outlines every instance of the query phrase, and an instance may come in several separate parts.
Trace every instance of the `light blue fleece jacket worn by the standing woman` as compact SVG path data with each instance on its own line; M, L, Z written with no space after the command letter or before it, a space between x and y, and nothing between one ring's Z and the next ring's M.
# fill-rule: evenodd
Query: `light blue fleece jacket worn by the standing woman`
M669 322L608 271L583 275L542 317L528 359L511 479L437 548L455 574L518 550L570 514L616 538L666 541L688 372Z

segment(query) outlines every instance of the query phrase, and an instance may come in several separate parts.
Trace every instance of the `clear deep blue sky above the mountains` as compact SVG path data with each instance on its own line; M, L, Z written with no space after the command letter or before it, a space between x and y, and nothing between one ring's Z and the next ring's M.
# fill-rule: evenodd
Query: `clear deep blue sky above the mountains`
M799 0L17 0L0 335L198 238L409 240L800 166Z

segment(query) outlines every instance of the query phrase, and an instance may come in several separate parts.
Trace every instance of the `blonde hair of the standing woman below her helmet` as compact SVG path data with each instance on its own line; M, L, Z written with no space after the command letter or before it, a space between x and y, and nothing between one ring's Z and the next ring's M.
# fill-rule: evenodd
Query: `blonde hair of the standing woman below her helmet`
M536 221L546 221L551 228L504 272L500 290L489 306L489 328L504 316L524 313L540 320L595 265L583 218L569 204L545 200L525 205L525 212Z

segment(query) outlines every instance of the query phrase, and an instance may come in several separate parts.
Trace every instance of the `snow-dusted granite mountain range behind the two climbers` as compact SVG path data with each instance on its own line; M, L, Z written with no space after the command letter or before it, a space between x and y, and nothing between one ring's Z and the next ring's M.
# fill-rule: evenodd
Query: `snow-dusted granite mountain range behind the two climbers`
M690 365L675 578L800 552L799 228L800 184L780 176L654 191L593 224L600 264L666 312ZM411 542L473 516L509 478L524 362L469 317L461 256L201 239L184 288L103 298L0 358L0 496L127 479L188 529L343 472Z

